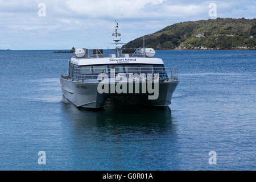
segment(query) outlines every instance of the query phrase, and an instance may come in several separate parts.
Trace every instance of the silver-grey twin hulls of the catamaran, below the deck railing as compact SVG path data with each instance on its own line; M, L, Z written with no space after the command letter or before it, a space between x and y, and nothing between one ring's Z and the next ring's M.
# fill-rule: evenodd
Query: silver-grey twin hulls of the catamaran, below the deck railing
M148 100L148 93L141 92L142 84L139 84L139 93L98 93L98 82L81 82L60 78L60 86L63 96L77 107L98 108L102 107L110 96L123 95L129 98L129 101L137 104L151 106L168 106L171 104L172 93L179 81L159 82L159 97L156 100ZM127 86L128 87L128 86ZM135 88L135 84L133 86ZM150 94L152 95L152 94Z

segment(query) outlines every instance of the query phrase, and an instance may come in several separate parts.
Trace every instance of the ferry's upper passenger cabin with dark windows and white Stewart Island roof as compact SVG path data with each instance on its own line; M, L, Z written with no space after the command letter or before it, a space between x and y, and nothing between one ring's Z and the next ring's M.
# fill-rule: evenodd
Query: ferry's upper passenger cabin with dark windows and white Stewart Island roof
M65 78L76 81L95 80L100 73L106 73L110 77L113 69L115 75L144 73L146 76L148 74L154 76L158 73L160 78L168 78L162 59L146 57L139 49L122 49L120 57L115 57L115 54L104 55L102 49L84 49L84 52L85 54L80 57L73 56L69 59ZM126 77L129 77L128 74Z

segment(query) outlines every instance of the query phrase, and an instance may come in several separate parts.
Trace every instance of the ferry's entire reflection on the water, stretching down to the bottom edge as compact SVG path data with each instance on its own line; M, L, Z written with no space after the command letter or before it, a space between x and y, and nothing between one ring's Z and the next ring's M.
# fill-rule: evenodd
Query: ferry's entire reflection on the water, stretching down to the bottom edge
M168 107L131 105L120 98L106 101L101 110L66 102L62 107L79 169L172 169L177 163L177 126Z

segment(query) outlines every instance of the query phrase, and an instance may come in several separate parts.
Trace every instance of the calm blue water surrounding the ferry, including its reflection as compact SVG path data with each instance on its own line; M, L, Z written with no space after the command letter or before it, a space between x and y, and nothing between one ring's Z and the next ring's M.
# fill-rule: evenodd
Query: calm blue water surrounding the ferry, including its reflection
M244 54L256 51L157 51L179 69L171 110L93 111L63 101L72 54L0 51L0 169L255 170L256 56Z

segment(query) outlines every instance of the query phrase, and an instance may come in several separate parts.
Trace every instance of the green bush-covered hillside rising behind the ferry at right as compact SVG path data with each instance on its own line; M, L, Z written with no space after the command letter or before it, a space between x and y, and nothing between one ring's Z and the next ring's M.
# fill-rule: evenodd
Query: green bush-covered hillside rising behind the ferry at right
M256 49L256 19L216 18L175 23L145 35L144 39L145 47L155 49ZM124 47L143 47L143 37Z

